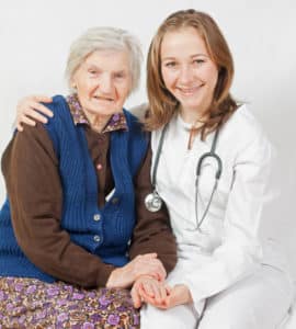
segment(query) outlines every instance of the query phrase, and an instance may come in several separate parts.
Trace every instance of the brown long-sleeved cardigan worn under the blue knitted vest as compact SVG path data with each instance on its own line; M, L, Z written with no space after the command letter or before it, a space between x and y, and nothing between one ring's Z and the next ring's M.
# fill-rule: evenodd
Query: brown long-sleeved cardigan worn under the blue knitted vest
M98 204L102 207L114 186L109 161L110 133L98 134L88 125L84 129L96 168ZM145 196L152 190L150 164L149 149L135 179L137 223L129 256L133 259L138 254L157 252L167 272L170 272L177 262L177 247L168 211L163 206L161 211L150 213L144 205ZM60 228L62 188L58 159L42 124L25 126L24 132L18 133L10 141L2 157L2 172L15 236L29 259L34 259L35 265L61 281L86 287L104 286L114 266L73 243L68 232ZM48 262L48 254L52 262Z

